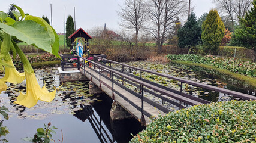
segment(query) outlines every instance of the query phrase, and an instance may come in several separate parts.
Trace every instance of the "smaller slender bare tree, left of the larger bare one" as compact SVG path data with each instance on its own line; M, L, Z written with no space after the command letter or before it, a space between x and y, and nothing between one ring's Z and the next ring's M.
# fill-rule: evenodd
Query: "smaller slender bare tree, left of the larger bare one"
M146 21L146 1L125 0L118 15L122 18L122 27L135 30L135 45L138 45L138 32Z

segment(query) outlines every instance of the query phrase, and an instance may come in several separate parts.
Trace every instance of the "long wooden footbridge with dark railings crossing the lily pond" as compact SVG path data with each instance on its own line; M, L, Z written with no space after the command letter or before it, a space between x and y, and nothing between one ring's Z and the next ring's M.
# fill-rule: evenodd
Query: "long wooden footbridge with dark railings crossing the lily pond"
M235 98L240 98L241 100L256 100L256 97L252 95L230 91L228 89L218 88L216 86L206 85L158 73L156 71L141 69L124 63L107 60L106 55L91 55L94 57L94 61L82 57L76 57L78 58L77 65L79 65L76 68L84 76L90 79L91 82L97 85L98 88L109 95L114 102L121 105L121 107L127 110L128 113L144 125L151 122L150 117L157 117L159 114L164 115L174 109L188 108L192 105L210 103L210 101L203 100L183 92L182 88L185 83L209 89L210 91L231 95ZM63 60L61 62L62 70L74 68L65 66L68 63L65 59L70 59L72 57L67 55L62 55L61 57ZM134 70L139 71L140 76L135 76L129 73L129 71ZM165 77L170 80L177 80L180 83L180 90L177 91L176 89L171 89L167 86L143 79L143 72ZM132 87L132 89L129 87ZM137 92L134 89L136 89ZM151 100L149 97L155 97L158 100Z

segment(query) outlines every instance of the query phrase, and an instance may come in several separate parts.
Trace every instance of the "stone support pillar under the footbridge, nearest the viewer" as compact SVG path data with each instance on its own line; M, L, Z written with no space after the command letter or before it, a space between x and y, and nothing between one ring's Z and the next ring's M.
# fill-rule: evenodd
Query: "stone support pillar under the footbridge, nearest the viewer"
M121 105L112 103L112 108L110 110L110 118L112 120L124 120L133 118L131 114L128 113Z

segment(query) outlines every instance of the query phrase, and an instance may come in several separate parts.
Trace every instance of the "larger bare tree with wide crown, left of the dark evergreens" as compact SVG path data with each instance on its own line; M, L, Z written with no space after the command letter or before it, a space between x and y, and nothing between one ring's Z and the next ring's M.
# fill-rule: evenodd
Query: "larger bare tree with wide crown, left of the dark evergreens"
M151 25L149 32L158 45L158 53L162 52L162 45L168 39L168 32L177 19L183 17L188 11L186 0L150 0L149 19Z

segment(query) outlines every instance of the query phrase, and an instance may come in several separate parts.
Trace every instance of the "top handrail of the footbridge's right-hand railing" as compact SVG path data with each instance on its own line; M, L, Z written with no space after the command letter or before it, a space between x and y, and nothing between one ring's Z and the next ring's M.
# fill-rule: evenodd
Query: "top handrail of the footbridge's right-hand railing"
M152 74L156 74L158 76L167 77L168 79L177 80L177 81L180 81L182 83L188 83L189 85L194 85L194 86L198 86L198 87L201 87L201 88L206 88L206 89L214 90L214 91L217 91L217 92L221 92L223 94L232 95L234 97L239 97L239 98L242 98L244 100L256 100L256 97L253 96L253 95L243 94L243 93L240 93L240 92L231 91L231 90L224 89L224 88L219 88L219 87L212 86L212 85L207 85L207 84L204 84L204 83L194 82L194 81L191 81L191 80L182 79L180 77L174 77L174 76L170 76L168 74L158 73L156 71L142 69L140 67L129 66L128 64L118 63L116 61L108 60L108 59L103 58L103 57L98 57L98 56L94 56L94 57L101 58L102 60L106 60L110 63L115 63L115 64L119 64L119 65L122 65L122 66L130 67L132 69L146 71L147 73L152 73Z

